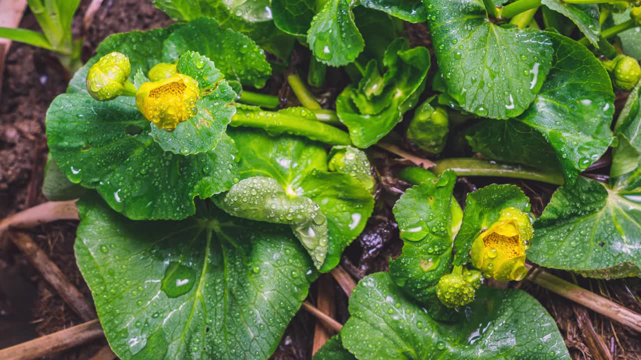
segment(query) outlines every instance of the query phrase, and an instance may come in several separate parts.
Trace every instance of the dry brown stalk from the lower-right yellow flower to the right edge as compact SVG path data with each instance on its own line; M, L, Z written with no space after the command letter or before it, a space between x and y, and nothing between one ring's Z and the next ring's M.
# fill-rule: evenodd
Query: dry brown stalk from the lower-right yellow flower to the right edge
M526 264L526 266L531 268L530 265ZM613 320L617 320L617 322L628 325L632 329L641 332L641 315L631 311L627 307L613 302L612 300L605 299L592 291L585 290L580 286L567 282L540 269L536 269L531 272L526 279L538 286L541 286L542 288L565 297L565 299L577 302L588 309L592 309L597 313L608 316Z

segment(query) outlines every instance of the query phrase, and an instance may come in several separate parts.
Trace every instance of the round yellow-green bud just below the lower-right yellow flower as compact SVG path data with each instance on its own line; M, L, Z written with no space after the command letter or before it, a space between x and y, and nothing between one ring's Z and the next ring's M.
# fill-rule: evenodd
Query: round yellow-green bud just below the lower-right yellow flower
M463 266L454 266L451 274L444 275L437 284L437 297L447 307L460 307L474 301L481 286L481 272Z

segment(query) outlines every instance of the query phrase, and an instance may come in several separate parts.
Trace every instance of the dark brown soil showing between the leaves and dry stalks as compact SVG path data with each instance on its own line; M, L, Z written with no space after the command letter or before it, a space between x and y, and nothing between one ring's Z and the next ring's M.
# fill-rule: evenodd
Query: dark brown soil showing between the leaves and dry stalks
M76 16L74 29L77 34L81 32L81 15L88 2L83 1L79 15ZM169 23L171 20L156 10L149 1L105 0L87 31L85 60L94 53L97 44L112 33L158 28ZM28 11L22 19L21 27L37 29L35 18ZM410 26L407 30L413 43L424 44L428 41L425 28ZM50 53L29 45L12 45L6 59L0 97L0 218L46 201L40 191L47 156L44 117L49 103L57 94L64 92L66 81L62 67ZM280 86L281 83L282 79L275 77L268 84L268 88L272 93L281 94L285 98L283 102L287 102L288 89L286 86ZM335 88L324 89L319 95L331 99L336 92ZM378 159L377 166L384 187L402 189L403 184L390 183L393 179L390 180L388 177L388 170L394 165L394 161L390 161L387 155L381 155ZM469 179L460 179L457 195L488 183L491 183L491 180L472 182ZM535 213L542 211L553 192L553 188L538 183L516 184L522 186L531 197ZM389 194L384 190L381 193ZM354 241L354 245L347 250L342 265L354 277L386 270L390 256L400 253L402 243L397 236L396 224L389 220L393 201L393 198L379 199L380 206L375 212L376 216L370 219L359 240ZM79 290L90 298L73 254L75 231L75 222L57 222L32 229L31 236ZM641 312L639 279L611 282L579 279L579 283ZM587 341L583 338L586 332L576 320L577 315L573 309L576 305L531 284L526 284L524 288L535 295L557 319L572 357L594 358L590 355ZM310 293L313 302L317 294L315 286L312 286ZM335 293L338 320L344 322L348 316L347 297L338 287ZM588 317L614 359L641 359L639 334L592 311L588 311ZM21 252L15 249L8 239L0 238L0 348L78 323L81 323L78 316L47 285ZM313 324L313 318L305 311L300 311L292 320L273 358L310 359ZM46 358L89 359L104 344L104 340L95 341Z

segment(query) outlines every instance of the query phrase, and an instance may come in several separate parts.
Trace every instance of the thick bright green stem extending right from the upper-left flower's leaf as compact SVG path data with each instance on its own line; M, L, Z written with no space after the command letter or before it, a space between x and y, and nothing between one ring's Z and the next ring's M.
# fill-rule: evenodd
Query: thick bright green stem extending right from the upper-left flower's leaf
M349 134L317 120L304 119L286 113L252 111L237 108L231 118L231 126L247 126L265 129L270 133L289 133L306 136L329 145L351 145Z

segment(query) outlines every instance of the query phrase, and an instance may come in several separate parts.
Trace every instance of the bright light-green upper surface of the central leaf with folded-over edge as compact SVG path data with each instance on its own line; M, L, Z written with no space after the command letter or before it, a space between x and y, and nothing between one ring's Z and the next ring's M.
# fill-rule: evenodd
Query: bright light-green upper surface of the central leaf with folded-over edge
M374 208L372 195L353 177L327 172L327 152L319 143L249 129L228 133L238 146L243 179L273 177L289 197L308 197L320 206L328 227L328 254L320 271L334 268L345 247L363 231Z

